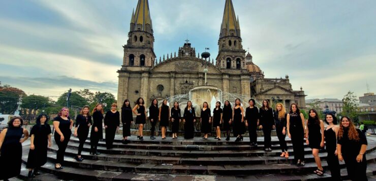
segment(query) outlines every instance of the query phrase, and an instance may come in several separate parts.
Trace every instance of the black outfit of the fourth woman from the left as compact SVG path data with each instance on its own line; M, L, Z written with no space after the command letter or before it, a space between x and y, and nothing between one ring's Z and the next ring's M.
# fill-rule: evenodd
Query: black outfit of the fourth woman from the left
M81 155L83 144L85 143L89 134L90 127L87 126L89 124L91 125L91 116L85 117L83 115L77 115L75 127L77 128L77 136L80 141L77 155Z

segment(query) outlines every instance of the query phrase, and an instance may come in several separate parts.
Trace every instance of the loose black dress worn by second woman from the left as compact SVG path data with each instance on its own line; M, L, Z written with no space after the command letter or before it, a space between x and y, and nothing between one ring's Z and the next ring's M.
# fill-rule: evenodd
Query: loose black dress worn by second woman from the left
M47 162L48 135L51 134L51 126L34 125L30 131L30 137L34 134L34 150L29 150L26 168L38 168Z

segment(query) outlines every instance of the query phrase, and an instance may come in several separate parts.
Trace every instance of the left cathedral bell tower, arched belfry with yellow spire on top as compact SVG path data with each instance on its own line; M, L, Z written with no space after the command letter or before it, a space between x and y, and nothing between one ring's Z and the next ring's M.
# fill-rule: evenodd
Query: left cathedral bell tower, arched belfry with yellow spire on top
M123 66L154 66L153 44L154 36L149 2L147 0L139 0L136 11L133 10L132 12L127 45L123 46Z

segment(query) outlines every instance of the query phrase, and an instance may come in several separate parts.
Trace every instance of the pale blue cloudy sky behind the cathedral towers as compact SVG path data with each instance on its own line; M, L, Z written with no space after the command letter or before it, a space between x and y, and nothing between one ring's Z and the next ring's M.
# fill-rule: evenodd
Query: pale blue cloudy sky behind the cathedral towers
M376 1L233 0L242 45L266 78L289 75L306 98L376 92ZM0 81L57 99L89 89L117 95L136 0L0 1ZM150 0L157 57L185 39L212 58L225 0Z

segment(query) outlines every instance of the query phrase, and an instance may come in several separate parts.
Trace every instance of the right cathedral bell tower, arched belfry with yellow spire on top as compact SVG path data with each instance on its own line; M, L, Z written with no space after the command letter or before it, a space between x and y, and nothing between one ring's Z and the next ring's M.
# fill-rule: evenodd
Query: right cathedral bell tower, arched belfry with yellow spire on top
M241 45L239 18L236 18L231 0L226 0L216 66L221 69L246 69L245 50Z

